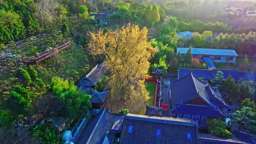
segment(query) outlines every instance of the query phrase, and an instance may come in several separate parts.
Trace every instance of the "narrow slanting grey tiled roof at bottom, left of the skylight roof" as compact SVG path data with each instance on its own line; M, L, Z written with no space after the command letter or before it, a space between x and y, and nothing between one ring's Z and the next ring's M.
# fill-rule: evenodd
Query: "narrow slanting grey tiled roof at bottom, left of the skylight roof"
M102 144L115 118L116 115L104 109L86 144Z

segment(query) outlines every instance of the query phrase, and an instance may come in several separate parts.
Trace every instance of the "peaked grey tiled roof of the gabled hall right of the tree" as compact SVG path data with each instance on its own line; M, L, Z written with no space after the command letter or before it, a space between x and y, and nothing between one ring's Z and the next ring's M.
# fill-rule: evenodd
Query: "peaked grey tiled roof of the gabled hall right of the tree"
M199 80L192 73L187 74L183 78L174 81L171 84L171 98L172 111L181 104L195 98L199 98L204 101L210 108L212 108L212 110L219 113L220 116L223 115L220 108L228 108L217 88L211 88L208 83ZM204 111L207 115L209 112Z

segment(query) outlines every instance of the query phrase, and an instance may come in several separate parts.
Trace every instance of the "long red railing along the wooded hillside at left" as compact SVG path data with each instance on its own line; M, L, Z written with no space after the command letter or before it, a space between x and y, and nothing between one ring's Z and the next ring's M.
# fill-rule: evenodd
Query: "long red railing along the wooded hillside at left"
M23 62L24 63L39 63L39 62L44 61L45 59L53 56L53 54L58 53L59 51L62 51L64 49L68 48L70 45L71 45L71 43L68 42L68 43L61 45L61 46L59 46L59 47L47 52L46 54L43 54L43 55L35 58L35 59L24 59Z

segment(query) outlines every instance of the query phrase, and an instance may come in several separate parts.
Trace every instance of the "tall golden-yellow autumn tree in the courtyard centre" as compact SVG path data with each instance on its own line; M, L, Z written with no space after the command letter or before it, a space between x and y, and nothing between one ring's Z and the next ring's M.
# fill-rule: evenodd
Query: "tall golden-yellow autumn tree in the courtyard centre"
M90 33L91 53L106 56L106 68L112 74L110 96L114 99L130 103L148 99L144 78L157 50L148 42L147 33L146 27L131 24L107 33Z

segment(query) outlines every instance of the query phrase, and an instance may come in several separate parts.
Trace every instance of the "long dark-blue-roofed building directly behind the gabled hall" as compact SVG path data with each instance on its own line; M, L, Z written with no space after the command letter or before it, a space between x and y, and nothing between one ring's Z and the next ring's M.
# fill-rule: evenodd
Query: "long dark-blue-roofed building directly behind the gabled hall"
M202 70L186 68L181 68L178 70L178 79L181 79L192 72L193 75L195 75L198 78L203 78L204 80L211 80L218 71L223 72L224 79L227 79L229 75L231 75L236 82L239 80L256 81L256 72L239 72L238 70L224 69Z

